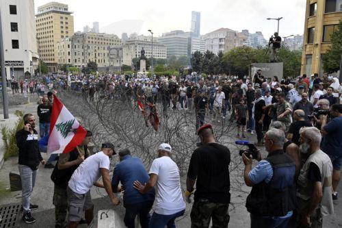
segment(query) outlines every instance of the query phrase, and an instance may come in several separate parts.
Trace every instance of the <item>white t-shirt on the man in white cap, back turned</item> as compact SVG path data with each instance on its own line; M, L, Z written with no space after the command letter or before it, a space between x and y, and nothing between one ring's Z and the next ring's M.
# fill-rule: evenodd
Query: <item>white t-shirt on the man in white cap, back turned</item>
M150 174L158 175L155 195L155 213L170 215L185 209L179 168L168 156L155 159Z

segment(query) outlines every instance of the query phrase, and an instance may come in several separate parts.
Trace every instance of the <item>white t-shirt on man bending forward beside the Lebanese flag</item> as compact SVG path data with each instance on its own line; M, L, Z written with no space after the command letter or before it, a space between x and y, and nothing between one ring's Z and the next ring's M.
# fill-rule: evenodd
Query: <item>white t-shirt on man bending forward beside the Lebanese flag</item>
M73 173L69 181L69 188L78 194L86 194L101 177L100 168L109 170L109 157L98 152L84 160Z

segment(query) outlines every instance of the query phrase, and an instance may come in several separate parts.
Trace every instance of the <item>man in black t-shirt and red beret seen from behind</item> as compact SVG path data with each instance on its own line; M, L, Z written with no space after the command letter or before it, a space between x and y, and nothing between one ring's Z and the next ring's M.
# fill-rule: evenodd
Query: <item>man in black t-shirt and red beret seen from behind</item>
M211 218L213 227L228 227L231 152L215 142L211 125L203 125L197 134L202 146L192 153L185 192L185 197L188 198L194 191L196 182L194 205L190 214L192 227L209 227Z

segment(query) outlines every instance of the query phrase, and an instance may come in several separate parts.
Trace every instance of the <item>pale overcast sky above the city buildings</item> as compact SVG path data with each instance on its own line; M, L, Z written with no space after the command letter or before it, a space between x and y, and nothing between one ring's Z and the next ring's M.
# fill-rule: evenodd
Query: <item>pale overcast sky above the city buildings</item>
M35 8L50 0L34 0ZM100 28L116 21L134 19L144 24L139 34L148 35L152 29L155 35L172 30L189 31L191 13L201 14L200 34L204 35L221 27L236 31L248 29L250 33L262 31L269 38L277 29L277 21L266 18L283 17L280 20L279 35L302 35L306 0L59 0L68 4L74 12L75 31L83 26L92 27L93 21ZM121 34L117 34L121 37Z

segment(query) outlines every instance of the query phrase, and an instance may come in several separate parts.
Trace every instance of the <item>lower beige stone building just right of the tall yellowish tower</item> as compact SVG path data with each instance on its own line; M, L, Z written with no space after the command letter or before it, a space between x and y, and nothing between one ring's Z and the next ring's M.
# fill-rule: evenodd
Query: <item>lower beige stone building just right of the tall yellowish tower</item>
M107 67L111 65L109 51L120 44L120 38L114 34L77 32L73 37L57 43L57 62L59 66L73 64L78 68L86 66L88 62Z

